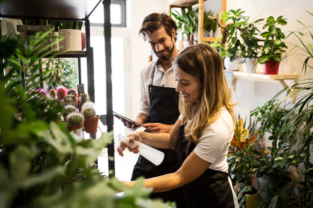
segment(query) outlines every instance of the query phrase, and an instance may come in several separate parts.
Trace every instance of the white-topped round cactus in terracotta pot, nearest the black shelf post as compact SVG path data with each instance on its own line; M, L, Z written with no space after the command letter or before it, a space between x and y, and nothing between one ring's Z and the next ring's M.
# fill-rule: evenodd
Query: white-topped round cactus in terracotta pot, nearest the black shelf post
M95 103L85 102L82 106L82 114L84 115L85 132L90 134L97 133L99 115L96 114Z

